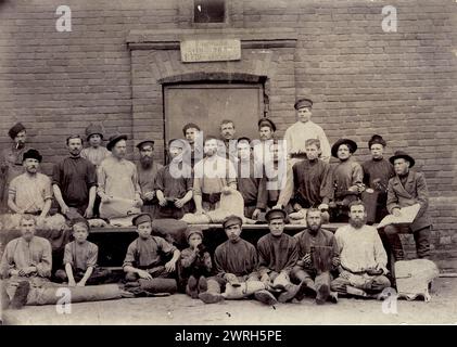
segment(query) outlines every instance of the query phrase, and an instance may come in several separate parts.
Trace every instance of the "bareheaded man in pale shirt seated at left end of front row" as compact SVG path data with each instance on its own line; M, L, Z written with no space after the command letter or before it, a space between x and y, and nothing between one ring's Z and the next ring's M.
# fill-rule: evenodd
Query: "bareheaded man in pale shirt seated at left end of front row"
M48 285L52 269L51 244L35 236L35 217L23 215L20 224L22 236L7 244L0 264L0 274L8 280L5 288L13 308L25 305L30 285Z

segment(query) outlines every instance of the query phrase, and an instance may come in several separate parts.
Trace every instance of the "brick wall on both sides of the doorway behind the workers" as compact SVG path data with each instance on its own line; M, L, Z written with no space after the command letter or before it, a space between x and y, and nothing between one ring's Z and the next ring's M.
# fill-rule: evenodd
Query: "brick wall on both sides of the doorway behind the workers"
M8 129L23 121L50 174L66 154L65 138L82 133L89 121L134 136L127 36L205 28L191 23L189 2L65 1L73 31L58 33L61 1L0 1L0 146L9 144ZM397 33L382 31L388 4L397 9ZM407 149L428 181L434 257L442 269L457 269L457 3L236 0L228 9L223 27L295 29L293 87L280 75L282 88L272 86L269 95L279 134L294 121L291 101L308 95L330 142L353 138L359 160L368 157L372 133L388 140L388 156ZM161 102L145 105L145 121ZM147 124L148 131L158 133L160 121Z

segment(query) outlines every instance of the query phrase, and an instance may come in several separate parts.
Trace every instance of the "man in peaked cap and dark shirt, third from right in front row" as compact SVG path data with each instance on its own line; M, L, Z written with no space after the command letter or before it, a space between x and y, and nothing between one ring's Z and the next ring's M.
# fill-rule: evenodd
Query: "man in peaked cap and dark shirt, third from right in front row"
M282 292L278 297L280 303L291 300L300 290L289 277L299 260L299 249L296 240L283 233L285 217L283 209L270 209L265 215L270 232L257 242L261 281L271 291Z

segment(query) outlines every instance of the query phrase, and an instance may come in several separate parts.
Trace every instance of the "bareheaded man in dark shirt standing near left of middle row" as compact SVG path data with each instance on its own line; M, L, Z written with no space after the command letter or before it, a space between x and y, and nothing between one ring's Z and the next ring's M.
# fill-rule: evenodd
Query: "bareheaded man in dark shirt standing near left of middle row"
M66 139L69 156L54 166L52 189L61 214L68 219L91 218L97 194L96 167L80 156L82 139L71 136Z

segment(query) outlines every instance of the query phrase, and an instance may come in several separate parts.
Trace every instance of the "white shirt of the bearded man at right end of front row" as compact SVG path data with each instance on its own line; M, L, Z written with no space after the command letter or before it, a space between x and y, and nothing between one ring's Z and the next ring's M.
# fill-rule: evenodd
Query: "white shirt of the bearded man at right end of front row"
M347 224L339 228L334 236L343 268L359 272L378 266L384 273L388 272L388 255L375 227L364 226L355 229Z

